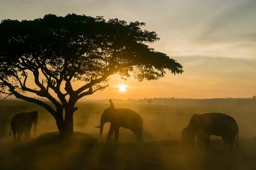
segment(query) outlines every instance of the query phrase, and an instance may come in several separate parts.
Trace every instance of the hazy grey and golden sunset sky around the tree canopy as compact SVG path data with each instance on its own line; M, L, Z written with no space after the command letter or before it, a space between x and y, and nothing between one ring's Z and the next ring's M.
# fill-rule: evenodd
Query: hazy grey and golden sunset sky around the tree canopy
M256 95L256 0L0 0L0 20L68 13L144 22L142 29L160 37L150 47L176 59L184 70L144 82L113 75L109 89L84 99Z

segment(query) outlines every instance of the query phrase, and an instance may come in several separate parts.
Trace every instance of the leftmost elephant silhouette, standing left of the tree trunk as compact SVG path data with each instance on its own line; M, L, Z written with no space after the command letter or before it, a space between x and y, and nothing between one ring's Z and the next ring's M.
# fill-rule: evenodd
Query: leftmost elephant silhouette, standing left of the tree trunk
M25 139L29 139L31 137L30 131L32 129L32 125L34 123L34 136L36 134L36 127L38 123L38 111L31 111L31 112L23 112L18 113L11 119L11 132L13 133L13 141L20 140L20 137L25 135ZM16 138L17 134L17 138Z

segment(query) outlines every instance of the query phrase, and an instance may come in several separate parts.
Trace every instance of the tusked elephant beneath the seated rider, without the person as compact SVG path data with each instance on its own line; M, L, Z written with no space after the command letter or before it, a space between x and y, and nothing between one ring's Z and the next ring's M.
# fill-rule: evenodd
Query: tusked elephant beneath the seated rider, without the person
M125 108L105 109L101 115L100 125L96 127L100 128L100 137L102 137L103 127L106 122L111 123L106 141L109 141L111 135L115 132L114 140L117 142L120 127L130 129L138 141L142 140L143 118L137 112Z

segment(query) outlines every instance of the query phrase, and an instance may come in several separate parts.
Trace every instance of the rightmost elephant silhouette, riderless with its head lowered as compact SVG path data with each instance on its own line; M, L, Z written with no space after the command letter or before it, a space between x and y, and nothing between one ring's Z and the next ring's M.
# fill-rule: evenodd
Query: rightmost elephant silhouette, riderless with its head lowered
M189 125L187 126L187 133L183 133L182 139L186 140L187 143L192 144L198 129L201 129L203 131L203 138L207 148L210 147L209 138L211 135L221 136L224 142L224 150L228 148L229 151L232 151L235 139L236 148L239 148L239 127L236 120L227 114L193 114L189 121Z

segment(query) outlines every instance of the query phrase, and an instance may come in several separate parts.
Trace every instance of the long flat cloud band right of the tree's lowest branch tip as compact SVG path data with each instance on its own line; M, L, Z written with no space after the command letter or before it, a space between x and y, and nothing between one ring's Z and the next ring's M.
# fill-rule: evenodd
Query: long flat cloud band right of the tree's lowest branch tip
M184 74L221 79L232 78L237 81L254 80L256 59L231 59L225 57L176 57L184 66ZM198 65L187 65L197 63ZM215 79L214 78L214 79Z

